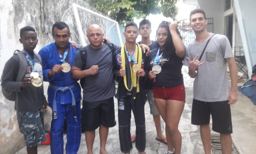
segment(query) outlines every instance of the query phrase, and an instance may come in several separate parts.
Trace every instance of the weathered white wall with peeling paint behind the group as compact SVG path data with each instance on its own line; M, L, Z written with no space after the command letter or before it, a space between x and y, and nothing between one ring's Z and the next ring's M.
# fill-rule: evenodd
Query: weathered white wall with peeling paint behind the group
M19 43L19 29L24 26L32 26L36 29L39 42L35 51L38 52L40 48L53 42L52 25L61 20L64 12L73 3L96 11L83 0L0 0L0 75L13 51L22 50L22 44ZM93 23L99 24L106 34L106 21L81 11L78 11L78 14L84 34L87 26ZM75 35L76 26L72 15L72 12L68 12L63 21L70 26L71 40L79 43ZM48 83L44 84L46 94ZM24 137L19 132L14 102L5 99L0 88L0 153L15 153L24 146Z

